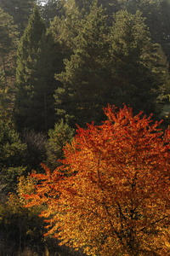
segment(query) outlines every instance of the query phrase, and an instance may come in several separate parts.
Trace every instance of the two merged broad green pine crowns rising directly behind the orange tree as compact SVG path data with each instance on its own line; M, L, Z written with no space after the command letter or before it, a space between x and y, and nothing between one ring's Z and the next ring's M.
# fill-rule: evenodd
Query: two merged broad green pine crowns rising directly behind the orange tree
M65 72L56 75L63 83L54 96L59 118L71 126L98 124L108 102L159 115L167 70L159 64L158 45L151 43L139 12L118 12L109 28L104 10L94 3L74 44Z

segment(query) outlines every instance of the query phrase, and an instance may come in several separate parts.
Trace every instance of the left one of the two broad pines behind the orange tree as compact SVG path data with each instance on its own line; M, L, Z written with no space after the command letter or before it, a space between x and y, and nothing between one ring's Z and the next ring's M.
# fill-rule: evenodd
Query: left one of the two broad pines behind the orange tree
M95 2L82 19L71 60L65 60L65 72L56 76L64 84L56 90L56 113L71 126L98 122L102 113L108 79L107 32L104 10Z

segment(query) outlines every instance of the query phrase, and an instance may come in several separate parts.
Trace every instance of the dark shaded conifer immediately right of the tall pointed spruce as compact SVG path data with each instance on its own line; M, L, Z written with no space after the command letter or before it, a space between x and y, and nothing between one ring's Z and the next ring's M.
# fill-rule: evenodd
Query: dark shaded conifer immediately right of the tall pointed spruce
M54 127L54 91L59 84L54 79L54 73L61 71L61 61L62 54L59 53L58 44L54 43L53 34L44 34L32 73L34 95L26 121L27 125L36 131L47 133L49 128Z

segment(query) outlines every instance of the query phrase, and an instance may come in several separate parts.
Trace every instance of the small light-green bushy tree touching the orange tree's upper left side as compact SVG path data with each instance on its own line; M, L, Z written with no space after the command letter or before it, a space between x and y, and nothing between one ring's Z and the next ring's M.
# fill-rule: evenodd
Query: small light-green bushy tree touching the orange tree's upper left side
M54 170L59 166L57 160L64 158L63 147L66 143L71 143L74 137L74 130L61 119L58 124L54 125L54 129L48 131L48 137L46 144L48 155L47 165Z

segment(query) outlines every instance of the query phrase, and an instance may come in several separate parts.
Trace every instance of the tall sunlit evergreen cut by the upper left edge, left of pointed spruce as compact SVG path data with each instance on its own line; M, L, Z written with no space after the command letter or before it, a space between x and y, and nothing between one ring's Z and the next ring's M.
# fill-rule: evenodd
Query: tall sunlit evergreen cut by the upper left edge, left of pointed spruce
M15 57L18 46L17 27L13 18L0 9L0 108L6 119L14 108Z

